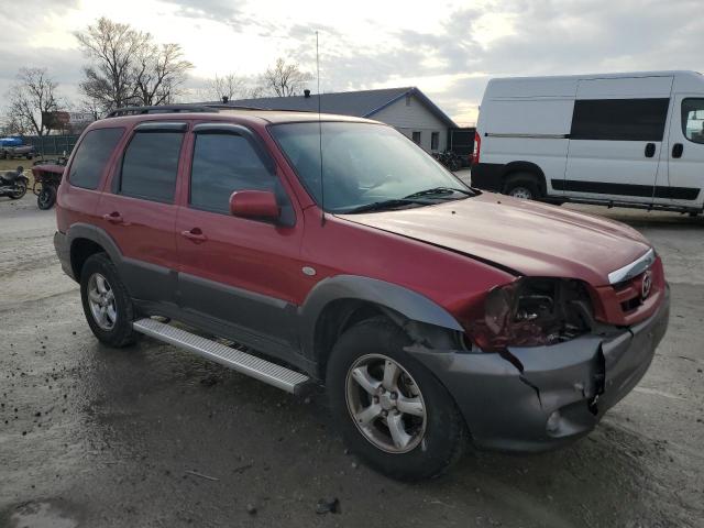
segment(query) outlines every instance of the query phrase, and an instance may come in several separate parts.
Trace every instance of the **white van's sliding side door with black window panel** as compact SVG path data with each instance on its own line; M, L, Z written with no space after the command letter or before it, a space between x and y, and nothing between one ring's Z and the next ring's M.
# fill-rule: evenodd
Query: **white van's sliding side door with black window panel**
M564 180L553 186L574 198L652 204L671 90L667 76L580 80Z

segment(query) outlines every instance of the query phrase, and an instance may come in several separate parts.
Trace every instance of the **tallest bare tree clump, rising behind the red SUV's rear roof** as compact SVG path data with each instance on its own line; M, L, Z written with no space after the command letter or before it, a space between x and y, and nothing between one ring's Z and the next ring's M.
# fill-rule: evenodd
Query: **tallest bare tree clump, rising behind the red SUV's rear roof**
M75 35L91 61L80 91L103 111L170 102L193 68L178 44L157 45L150 33L106 18Z

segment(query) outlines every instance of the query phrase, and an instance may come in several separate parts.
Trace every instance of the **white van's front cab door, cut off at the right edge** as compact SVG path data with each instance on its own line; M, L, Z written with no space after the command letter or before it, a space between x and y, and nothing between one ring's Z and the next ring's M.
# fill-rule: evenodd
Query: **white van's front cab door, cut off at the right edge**
M701 208L704 202L704 97L673 99L668 152L668 198L672 205Z

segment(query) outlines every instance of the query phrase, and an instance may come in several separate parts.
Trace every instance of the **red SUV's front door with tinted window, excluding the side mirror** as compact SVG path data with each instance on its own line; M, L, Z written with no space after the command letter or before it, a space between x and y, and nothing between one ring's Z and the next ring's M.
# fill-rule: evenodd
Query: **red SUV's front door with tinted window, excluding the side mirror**
M178 285L183 308L223 322L245 338L296 341L295 285L302 222L255 136L238 128L196 127L190 186L176 222ZM271 190L282 206L279 221L233 217L238 190ZM243 333L244 332L244 333ZM250 342L252 340L250 339Z

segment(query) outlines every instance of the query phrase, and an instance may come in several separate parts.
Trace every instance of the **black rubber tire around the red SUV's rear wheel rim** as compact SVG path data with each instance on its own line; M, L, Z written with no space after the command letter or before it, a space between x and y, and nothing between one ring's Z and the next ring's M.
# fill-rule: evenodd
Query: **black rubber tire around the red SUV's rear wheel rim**
M88 305L88 279L96 272L108 279L114 294L118 319L114 327L109 331L98 326ZM116 349L121 349L134 343L138 334L132 329L132 321L134 320L132 299L124 284L120 280L118 270L105 253L90 255L84 263L80 272L80 300L84 306L84 314L86 315L88 326L90 330L92 330L94 336L98 338L98 341Z

